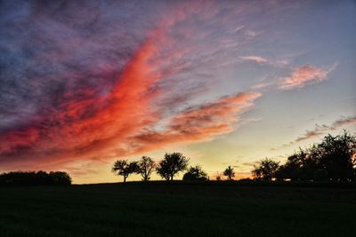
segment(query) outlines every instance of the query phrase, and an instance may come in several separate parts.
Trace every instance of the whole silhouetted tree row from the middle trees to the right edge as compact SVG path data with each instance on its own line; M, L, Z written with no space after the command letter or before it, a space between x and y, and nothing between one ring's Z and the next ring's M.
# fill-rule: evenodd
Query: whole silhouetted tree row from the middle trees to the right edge
M118 160L112 171L126 178L133 173L141 174L143 181L149 181L152 172L166 180L173 180L178 173L185 171L183 180L206 181L209 178L201 166L190 166L188 158L181 153L165 154L163 160L154 162L148 156L142 156L137 162ZM290 155L287 162L279 165L272 159L265 158L252 170L255 180L292 180L292 181L356 181L356 137L344 130L336 137L328 134L320 144ZM226 180L233 180L235 171L228 166L223 171ZM217 176L216 180L222 178ZM249 178L241 180L247 181Z

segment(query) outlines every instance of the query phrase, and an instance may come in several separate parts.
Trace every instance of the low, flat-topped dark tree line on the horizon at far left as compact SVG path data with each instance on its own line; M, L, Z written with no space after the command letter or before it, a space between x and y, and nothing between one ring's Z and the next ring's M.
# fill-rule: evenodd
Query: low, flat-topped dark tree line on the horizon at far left
M72 183L67 172L12 171L0 174L0 186L66 186Z

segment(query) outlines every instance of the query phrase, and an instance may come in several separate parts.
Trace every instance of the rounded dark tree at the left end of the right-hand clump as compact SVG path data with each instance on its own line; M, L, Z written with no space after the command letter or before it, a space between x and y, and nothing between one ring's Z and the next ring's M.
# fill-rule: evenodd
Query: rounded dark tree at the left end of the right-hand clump
M259 162L258 166L255 165L254 167L255 169L252 170L254 178L271 180L272 178L275 178L276 171L279 168L279 162L265 158Z

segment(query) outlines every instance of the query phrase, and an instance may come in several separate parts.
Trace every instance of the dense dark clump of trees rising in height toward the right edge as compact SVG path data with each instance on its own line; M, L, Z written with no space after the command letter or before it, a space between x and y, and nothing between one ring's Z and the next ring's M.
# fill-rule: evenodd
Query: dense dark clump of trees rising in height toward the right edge
M255 179L292 181L356 181L356 137L344 130L335 137L328 134L320 144L302 149L279 162L265 158L252 171Z

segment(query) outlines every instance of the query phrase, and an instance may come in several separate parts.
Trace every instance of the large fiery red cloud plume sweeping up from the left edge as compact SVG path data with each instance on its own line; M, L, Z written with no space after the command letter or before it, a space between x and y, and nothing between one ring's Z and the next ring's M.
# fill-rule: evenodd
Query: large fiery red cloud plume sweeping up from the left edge
M154 44L144 43L108 96L95 100L92 91L79 91L85 99L68 95L56 111L39 118L34 125L0 134L0 154L33 156L28 162L45 156L66 160L93 149L101 154L103 148L134 136L155 120L149 106L155 94L150 86L159 79L150 71L149 59L154 53Z

